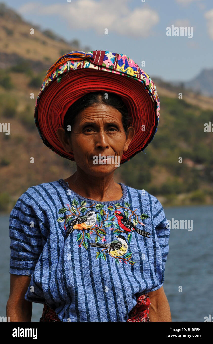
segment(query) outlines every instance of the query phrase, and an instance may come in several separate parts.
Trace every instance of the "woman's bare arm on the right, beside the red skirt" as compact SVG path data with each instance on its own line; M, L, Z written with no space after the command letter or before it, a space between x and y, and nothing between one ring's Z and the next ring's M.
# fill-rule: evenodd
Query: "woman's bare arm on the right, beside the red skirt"
M164 288L160 287L157 290L148 293L151 302L149 306L150 321L172 321L169 303L164 292Z

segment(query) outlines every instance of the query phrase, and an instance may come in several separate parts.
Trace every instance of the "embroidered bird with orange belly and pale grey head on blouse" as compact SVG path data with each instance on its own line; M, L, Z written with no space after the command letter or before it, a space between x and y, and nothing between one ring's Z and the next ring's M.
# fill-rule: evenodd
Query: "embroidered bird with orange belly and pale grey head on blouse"
M74 232L75 229L85 230L91 227L94 227L96 224L96 215L99 212L94 210L89 210L85 215L76 216L68 225L66 238L70 233Z

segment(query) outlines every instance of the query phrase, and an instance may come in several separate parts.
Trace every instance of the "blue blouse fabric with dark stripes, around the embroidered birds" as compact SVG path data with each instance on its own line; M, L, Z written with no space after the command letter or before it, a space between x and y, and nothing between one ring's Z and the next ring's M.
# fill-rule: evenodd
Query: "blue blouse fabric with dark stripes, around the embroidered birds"
M9 272L32 275L25 299L47 304L60 321L127 321L136 299L164 283L170 233L164 209L147 191L119 184L120 200L96 202L59 179L29 187L11 211ZM121 232L117 209L151 235ZM71 221L79 214L84 221L88 210L95 211L96 225L66 237ZM117 257L118 250L106 250L110 245L91 245L112 241L115 248L122 242Z

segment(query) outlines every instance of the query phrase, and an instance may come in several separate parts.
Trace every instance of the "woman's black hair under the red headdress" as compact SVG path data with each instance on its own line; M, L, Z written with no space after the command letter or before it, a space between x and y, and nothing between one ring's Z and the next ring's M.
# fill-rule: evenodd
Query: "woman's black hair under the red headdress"
M105 96L107 95L107 98ZM64 129L66 136L69 137L72 131L72 127L75 124L76 116L87 107L95 104L105 104L114 107L116 110L121 112L122 115L122 124L125 134L127 133L128 127L130 127L132 122L132 117L128 115L128 110L124 104L122 98L114 93L110 92L90 92L82 96L73 103L66 112L64 117ZM71 130L67 130L68 125L70 125Z

